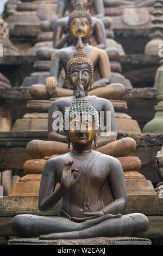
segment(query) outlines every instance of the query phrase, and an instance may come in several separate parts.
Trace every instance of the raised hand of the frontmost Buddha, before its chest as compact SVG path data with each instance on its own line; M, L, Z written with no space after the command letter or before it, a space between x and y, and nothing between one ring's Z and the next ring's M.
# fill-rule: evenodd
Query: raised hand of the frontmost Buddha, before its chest
M74 184L76 184L76 179L74 179L74 175L76 175L79 170L78 169L72 169L73 161L68 161L65 163L64 169L62 171L61 176L61 186L66 190L70 190Z

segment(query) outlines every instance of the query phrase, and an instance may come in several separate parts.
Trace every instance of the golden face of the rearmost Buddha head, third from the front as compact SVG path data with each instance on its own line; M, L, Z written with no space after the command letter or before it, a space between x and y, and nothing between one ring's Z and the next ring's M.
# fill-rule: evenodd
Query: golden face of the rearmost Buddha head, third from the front
M72 40L78 40L79 35L83 40L87 40L90 37L90 22L86 17L74 18L70 25L70 34Z

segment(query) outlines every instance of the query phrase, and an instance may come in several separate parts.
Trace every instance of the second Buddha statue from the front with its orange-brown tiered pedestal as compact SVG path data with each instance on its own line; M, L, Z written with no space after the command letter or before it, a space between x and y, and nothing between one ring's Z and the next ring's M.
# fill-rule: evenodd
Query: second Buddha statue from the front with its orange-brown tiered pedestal
M33 140L27 144L27 153L33 157L32 160L26 161L24 163L24 173L19 182L12 188L10 196L36 196L39 193L39 186L41 180L41 174L44 164L48 159L52 157L66 154L71 151L72 145L67 149L67 137L64 135L63 131L60 130L60 125L62 124L62 117L65 114L65 107L71 107L73 101L76 99L76 92L80 92L79 81L82 81L82 86L84 88L85 100L97 110L100 117L101 127L96 136L96 142L92 144L93 149L100 153L111 155L117 157L121 162L124 176L127 184L127 191L131 194L153 194L155 193L152 187L151 181L147 181L145 177L138 173L141 168L141 161L138 157L130 157L136 148L136 142L133 138L117 138L117 127L119 129L130 129L130 127L136 126L136 121L125 116L122 113L116 113L112 106L112 103L105 99L105 90L110 90L110 97L115 96L120 97L124 93L124 87L122 84L117 84L118 92L115 91L116 87L111 85L98 88L89 92L91 87L91 81L93 77L93 63L87 58L86 53L83 52L82 40L79 38L77 44L77 52L67 63L67 78L71 84L73 90L73 95L67 97L61 97L60 99L51 101L51 106L49 108L48 114L48 139L49 141ZM58 87L57 87L58 88ZM56 88L56 89L57 89ZM62 88L58 88L62 89ZM91 94L99 90L98 96ZM58 91L58 93L61 93ZM59 119L58 119L59 112ZM110 115L108 116L108 113ZM122 114L122 117L121 117ZM117 118L117 116L119 117ZM102 118L102 119L101 119ZM20 119L21 124L26 123L26 119ZM30 120L30 124L32 119ZM37 127L40 125L42 127L45 123L45 119L37 120ZM41 123L41 124L40 124ZM57 129L55 128L55 123L57 124ZM20 125L21 126L21 125ZM141 182L142 181L142 182ZM141 187L140 187L141 186Z

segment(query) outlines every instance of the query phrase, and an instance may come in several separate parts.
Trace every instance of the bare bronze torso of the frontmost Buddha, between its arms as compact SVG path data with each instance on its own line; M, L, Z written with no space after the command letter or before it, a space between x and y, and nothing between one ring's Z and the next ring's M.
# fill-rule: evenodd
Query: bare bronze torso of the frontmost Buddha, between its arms
M62 199L59 211L60 217L84 217L84 212L99 211L112 202L112 195L108 185L109 156L92 151L86 156L72 153L65 155L65 161L74 161L72 168L79 172L76 174L77 182ZM107 161L105 160L107 157ZM63 165L64 166L64 165ZM61 179L61 169L57 169L58 182Z

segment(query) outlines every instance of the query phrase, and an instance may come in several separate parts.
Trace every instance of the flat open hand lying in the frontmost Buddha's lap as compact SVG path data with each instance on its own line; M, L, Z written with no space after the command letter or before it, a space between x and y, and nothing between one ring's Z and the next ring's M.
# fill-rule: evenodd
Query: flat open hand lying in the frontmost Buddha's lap
M71 221L84 222L84 221L92 220L94 218L99 218L99 217L104 216L104 212L103 211L84 212L84 215L87 215L87 217L84 217L84 218L71 217ZM120 217L122 217L121 214L115 214L115 215L107 214L105 216L107 217L107 220L109 220L111 218L120 218Z

